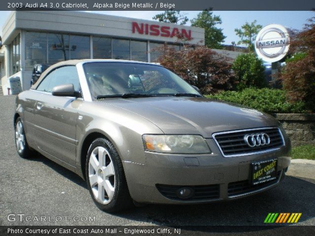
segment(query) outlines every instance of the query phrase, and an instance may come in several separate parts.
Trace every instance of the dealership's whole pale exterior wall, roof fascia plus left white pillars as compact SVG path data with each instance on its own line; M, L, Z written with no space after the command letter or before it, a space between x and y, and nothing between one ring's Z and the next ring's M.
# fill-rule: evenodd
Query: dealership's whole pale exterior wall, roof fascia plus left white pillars
M177 28L179 31L185 29L191 31L192 44L204 44L204 29L180 26L157 21L148 21L141 19L133 19L126 17L110 16L103 14L95 14L78 11L12 11L4 23L2 28L2 44L4 60L5 60L5 75L1 75L1 85L3 94L7 94L7 88L10 88L9 78L19 77L21 80L22 89L30 89L32 72L25 71L25 31L40 31L40 32L65 32L70 34L85 34L85 35L100 35L128 39L140 39L148 42L168 42L178 43L176 36L162 37L160 35L151 35L150 33L132 32L132 22L140 24L158 25L159 28L166 26L172 29ZM8 76L11 71L10 52L8 45L20 33L20 68L21 71ZM92 37L91 37L92 41ZM92 46L91 46L92 47ZM150 49L150 45L148 45ZM91 53L93 53L91 51ZM148 55L150 61L150 54Z

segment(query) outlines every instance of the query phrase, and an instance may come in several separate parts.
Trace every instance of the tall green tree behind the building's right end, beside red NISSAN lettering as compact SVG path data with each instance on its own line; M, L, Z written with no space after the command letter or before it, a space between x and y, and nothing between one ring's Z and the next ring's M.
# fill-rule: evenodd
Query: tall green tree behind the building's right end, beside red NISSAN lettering
M221 43L224 42L226 36L223 35L222 29L216 27L221 24L221 17L213 15L212 11L204 10L199 12L196 18L191 21L191 26L205 29L205 45L208 48L222 48Z

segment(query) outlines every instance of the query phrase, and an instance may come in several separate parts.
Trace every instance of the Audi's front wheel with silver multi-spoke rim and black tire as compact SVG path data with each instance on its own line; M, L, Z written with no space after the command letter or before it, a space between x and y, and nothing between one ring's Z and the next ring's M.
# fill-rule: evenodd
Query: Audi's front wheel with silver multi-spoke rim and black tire
M99 209L117 212L133 206L122 160L111 142L95 139L88 150L85 168L88 189Z

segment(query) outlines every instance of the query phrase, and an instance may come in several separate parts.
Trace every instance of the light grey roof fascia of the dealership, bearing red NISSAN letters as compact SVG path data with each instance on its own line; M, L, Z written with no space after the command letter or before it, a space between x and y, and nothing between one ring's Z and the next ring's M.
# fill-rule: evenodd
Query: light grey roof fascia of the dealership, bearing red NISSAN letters
M157 21L148 21L127 17L110 16L77 11L16 11L13 12L2 29L2 40L6 44L12 40L12 29L29 29L39 31L59 31L67 33L98 34L133 39L176 42L176 37L162 37L150 34L132 33L132 22L155 24L160 27L191 30L190 43L204 41L204 29L181 26ZM204 42L203 42L204 43Z

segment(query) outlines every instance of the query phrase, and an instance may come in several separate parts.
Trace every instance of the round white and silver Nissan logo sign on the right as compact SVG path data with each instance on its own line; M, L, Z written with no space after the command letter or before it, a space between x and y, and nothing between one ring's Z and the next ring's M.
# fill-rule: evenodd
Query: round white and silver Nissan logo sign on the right
M255 50L259 58L266 62L283 59L289 50L288 30L277 24L262 28L256 37Z

